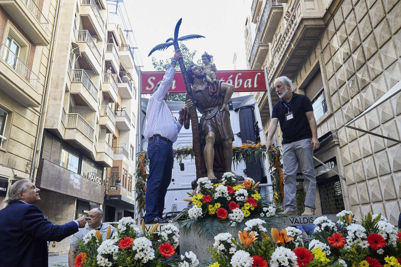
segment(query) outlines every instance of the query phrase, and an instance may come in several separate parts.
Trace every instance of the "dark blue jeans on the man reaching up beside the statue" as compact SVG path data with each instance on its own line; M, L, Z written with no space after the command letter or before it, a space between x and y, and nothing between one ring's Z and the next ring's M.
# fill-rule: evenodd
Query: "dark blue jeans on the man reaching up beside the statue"
M145 193L145 221L162 217L164 197L171 182L173 148L166 141L156 139L148 143L149 176Z

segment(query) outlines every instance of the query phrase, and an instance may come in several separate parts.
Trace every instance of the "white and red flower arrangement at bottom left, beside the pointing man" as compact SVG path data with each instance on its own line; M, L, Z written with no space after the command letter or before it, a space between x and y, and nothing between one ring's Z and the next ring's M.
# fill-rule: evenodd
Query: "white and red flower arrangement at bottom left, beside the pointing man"
M154 234L158 224L146 231L136 227L131 217L122 218L116 225L113 236L110 227L106 239L99 230L92 230L78 240L74 267L196 267L199 261L192 251L176 255L179 230L173 224Z

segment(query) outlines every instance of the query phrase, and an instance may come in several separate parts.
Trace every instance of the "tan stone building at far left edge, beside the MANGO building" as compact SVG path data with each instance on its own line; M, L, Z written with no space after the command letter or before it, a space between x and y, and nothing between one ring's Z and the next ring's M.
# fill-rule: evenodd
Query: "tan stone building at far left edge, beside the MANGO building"
M57 8L57 0L0 1L0 209L12 182L32 172Z

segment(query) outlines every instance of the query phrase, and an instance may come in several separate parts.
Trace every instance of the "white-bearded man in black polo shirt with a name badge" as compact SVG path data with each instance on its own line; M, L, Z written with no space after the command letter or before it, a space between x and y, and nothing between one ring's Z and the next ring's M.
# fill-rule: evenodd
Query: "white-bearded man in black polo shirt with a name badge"
M312 104L304 94L292 92L294 86L289 78L281 76L274 81L280 100L274 104L267 134L267 151L273 150L271 138L277 123L283 132L284 166L284 214L297 215L295 198L296 175L300 166L305 177L306 198L303 216L314 215L316 198L316 175L313 151L319 148L318 133Z

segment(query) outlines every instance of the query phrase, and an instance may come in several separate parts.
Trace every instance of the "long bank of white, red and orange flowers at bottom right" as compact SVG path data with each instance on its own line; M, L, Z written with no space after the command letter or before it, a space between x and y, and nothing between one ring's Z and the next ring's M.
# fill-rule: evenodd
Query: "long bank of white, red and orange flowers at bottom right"
M355 220L350 211L337 214L334 223L318 217L313 237L303 239L300 230L271 228L252 219L239 231L214 237L209 247L213 263L208 267L400 267L401 232L387 219L371 213Z

